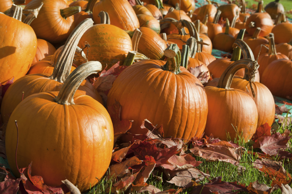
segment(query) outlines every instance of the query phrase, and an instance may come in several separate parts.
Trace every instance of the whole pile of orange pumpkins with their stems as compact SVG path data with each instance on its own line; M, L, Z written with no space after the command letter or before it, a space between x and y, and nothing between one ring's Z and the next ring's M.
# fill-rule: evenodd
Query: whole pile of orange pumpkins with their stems
M106 108L116 101L121 119L133 120L132 134L144 133L140 125L148 119L184 140L204 132L248 141L260 125L273 123L272 95L292 96L292 24L277 0L267 12L260 1L252 15L244 0L241 8L208 1L195 9L194 0L135 3L0 2L0 82L14 79L1 119L16 176L33 161L32 174L45 184L68 179L88 190L111 161L114 129ZM216 59L213 48L233 52L232 58ZM104 107L86 77L117 62L128 67ZM190 73L198 66L213 77L206 87Z

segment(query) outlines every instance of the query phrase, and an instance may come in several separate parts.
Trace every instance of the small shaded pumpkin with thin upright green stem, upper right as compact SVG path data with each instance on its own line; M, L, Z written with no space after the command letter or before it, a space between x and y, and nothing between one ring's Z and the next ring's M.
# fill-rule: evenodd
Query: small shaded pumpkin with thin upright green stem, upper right
M213 48L222 50L225 52L231 52L232 51L232 45L235 41L234 36L229 34L229 20L226 18L226 28L225 33L219 33L217 34L213 39Z

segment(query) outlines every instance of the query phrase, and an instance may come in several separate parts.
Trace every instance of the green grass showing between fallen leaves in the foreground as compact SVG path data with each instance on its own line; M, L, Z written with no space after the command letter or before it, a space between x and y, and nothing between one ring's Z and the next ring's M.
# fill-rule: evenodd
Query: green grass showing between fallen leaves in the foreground
M273 128L277 128L276 132L280 132L283 133L286 129L288 130L292 130L292 124L290 124L289 126L286 127L282 127L279 126L277 123L274 124ZM236 143L240 144L241 146L243 146L246 150L250 150L252 151L252 149L250 147L248 147L248 144L246 143L242 143L240 141L235 140ZM290 144L290 148L288 148L286 151L292 152L292 138L290 139L290 141L288 142ZM234 182L234 181L238 181L241 184L246 184L249 185L250 182L254 182L256 180L259 181L259 183L261 184L267 184L267 186L270 186L272 180L269 179L268 177L265 176L265 174L263 172L260 172L259 170L253 168L252 163L250 162L254 162L256 159L258 159L256 156L254 156L253 154L248 154L246 151L244 151L240 162L241 166L246 167L246 170L242 173L239 173L237 171L237 166L234 166L230 163L225 163L225 162L206 162L205 159L194 156L196 158L197 161L201 161L202 163L197 167L200 171L202 172L209 172L211 177L219 177L222 176L223 179L222 181L228 181L228 182ZM285 170L287 170L287 172L289 172L290 174L292 174L292 164L290 161L284 161L284 168ZM166 179L164 179L165 177L163 176L163 174L161 172L159 172L159 174L157 174L156 176L159 177L163 177L162 181L160 181L159 179L153 177L152 175L150 175L147 183L148 184L152 184L153 186L159 188L161 191L173 188L173 189L178 189L177 186L175 186L174 184L170 184L168 182L166 182ZM107 191L107 188L110 188L116 181L114 180L107 180L106 176L105 178L103 178L99 184L95 185L95 187L88 192L88 194L101 194L101 193L105 193ZM199 184L204 184L208 182L208 179L204 179L203 181L201 181ZM183 191L183 194L187 194L188 191L190 191L191 188L189 190L185 190ZM121 192L123 193L123 192ZM245 192L240 192L241 194L245 193ZM281 190L278 189L276 191L274 191L272 194L281 194Z

